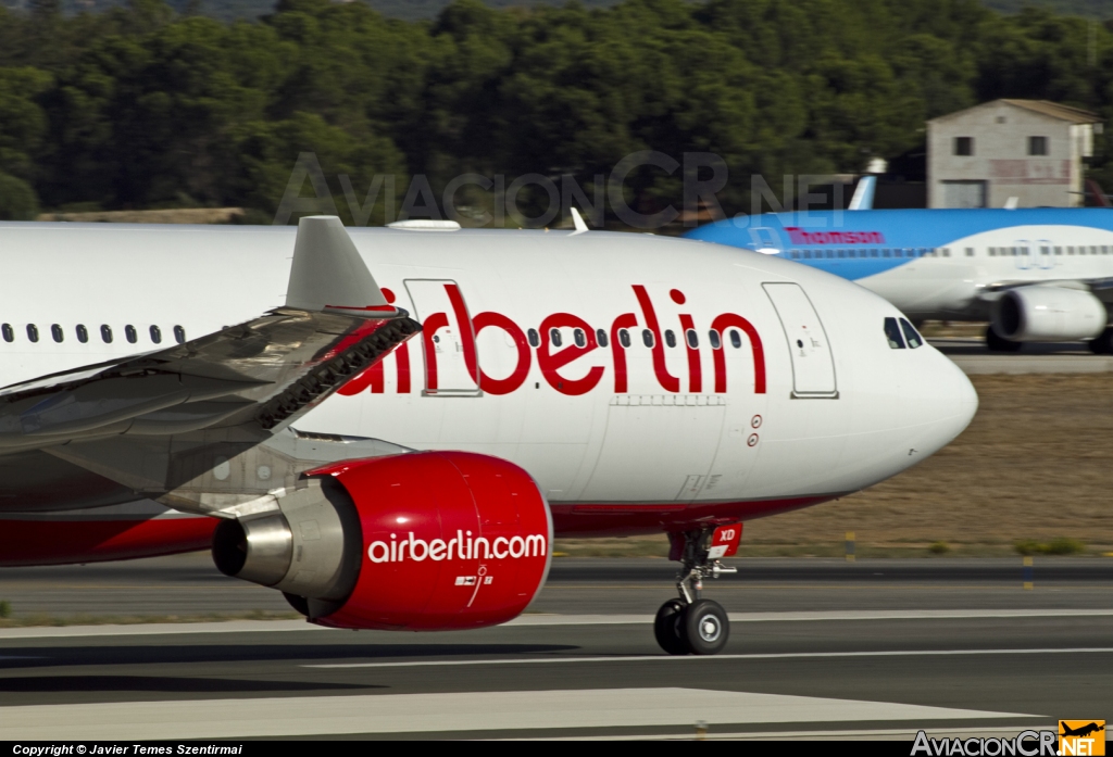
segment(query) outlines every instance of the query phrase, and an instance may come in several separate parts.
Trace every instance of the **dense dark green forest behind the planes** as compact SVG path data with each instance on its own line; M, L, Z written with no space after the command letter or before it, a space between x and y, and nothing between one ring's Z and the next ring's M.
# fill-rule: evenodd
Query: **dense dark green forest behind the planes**
M0 216L242 206L266 222L312 151L351 220L339 175L361 201L376 175L398 177L395 199L415 175L437 193L465 172L589 186L647 149L721 156L733 212L752 173L776 188L859 171L920 147L925 119L997 97L1113 123L1113 34L975 0L457 0L415 22L327 0L280 0L257 22L35 0L0 9ZM651 209L680 187L646 169L628 192Z

